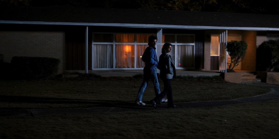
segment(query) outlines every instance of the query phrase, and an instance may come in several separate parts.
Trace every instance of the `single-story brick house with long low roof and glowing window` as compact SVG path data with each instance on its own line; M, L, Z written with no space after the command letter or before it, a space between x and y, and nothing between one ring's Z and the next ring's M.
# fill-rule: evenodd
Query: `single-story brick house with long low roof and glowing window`
M148 36L172 43L177 70L226 72L227 41L248 43L236 70L256 71L256 49L279 38L279 15L81 7L0 9L0 54L61 60L66 71L140 70Z

